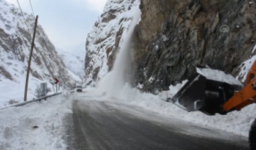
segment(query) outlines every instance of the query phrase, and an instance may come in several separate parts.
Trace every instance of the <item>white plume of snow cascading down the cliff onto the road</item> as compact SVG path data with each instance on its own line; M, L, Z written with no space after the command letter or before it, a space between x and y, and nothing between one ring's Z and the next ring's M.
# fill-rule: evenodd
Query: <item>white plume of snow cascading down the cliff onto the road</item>
M136 7L136 9L134 9L133 21L131 22L128 31L123 36L123 42L120 46L120 51L117 54L117 59L114 62L113 70L106 74L98 84L98 90L106 93L106 96L118 99L121 98L121 90L125 86L125 83L130 80L129 72L132 67L131 37L140 16L141 11L139 10L139 7Z

